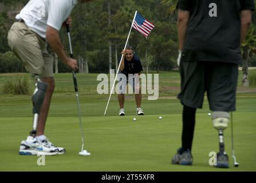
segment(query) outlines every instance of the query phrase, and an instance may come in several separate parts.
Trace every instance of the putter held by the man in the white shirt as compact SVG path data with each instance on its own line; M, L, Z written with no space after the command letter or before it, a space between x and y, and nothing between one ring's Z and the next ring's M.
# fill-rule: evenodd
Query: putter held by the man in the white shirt
M72 44L71 44L70 29L69 29L68 24L66 24L66 31L68 33L68 38L69 38L70 58L74 58ZM80 129L81 129L81 136L82 136L82 149L81 149L81 152L79 152L79 155L80 156L90 156L90 153L84 149L85 140L84 140L84 133L82 132L82 120L81 120L80 102L79 102L79 98L78 98L78 85L77 85L77 79L76 79L76 72L73 71L72 74L73 74L73 81L74 81L74 92L76 92L78 118L79 118L79 122L80 122Z

